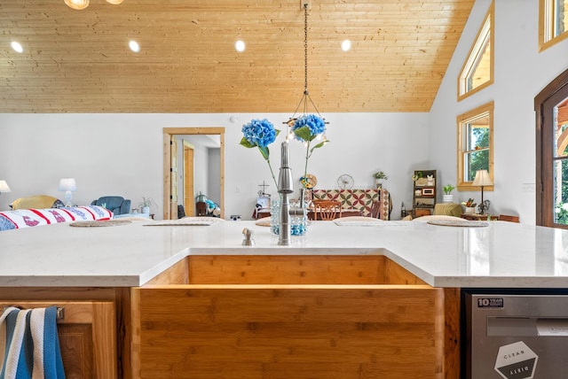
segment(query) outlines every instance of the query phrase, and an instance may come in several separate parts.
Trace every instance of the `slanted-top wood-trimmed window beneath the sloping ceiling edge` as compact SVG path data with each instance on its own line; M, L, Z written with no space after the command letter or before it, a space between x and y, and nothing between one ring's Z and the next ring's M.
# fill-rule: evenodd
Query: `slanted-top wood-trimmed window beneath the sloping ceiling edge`
M489 7L475 43L469 50L468 59L461 67L458 101L493 83L493 13L494 3Z

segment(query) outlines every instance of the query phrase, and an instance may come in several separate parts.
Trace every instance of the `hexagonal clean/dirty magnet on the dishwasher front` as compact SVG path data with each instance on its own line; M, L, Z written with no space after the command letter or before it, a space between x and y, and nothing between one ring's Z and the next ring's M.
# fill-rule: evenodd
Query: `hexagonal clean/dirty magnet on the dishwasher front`
M523 341L505 344L497 352L495 371L505 379L532 379L537 360L539 356Z

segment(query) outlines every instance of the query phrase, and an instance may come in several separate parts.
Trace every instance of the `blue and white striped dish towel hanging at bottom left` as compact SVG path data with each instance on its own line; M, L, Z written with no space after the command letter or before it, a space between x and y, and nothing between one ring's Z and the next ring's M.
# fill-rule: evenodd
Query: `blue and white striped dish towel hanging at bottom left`
M65 378L56 317L55 306L4 310L0 316L0 379Z

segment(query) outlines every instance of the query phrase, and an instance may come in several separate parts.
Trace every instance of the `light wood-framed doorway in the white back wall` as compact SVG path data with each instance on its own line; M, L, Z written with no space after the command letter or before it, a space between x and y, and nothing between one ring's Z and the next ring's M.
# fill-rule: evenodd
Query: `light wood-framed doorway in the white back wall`
M193 190L193 177L181 183L184 189L183 197L178 198L178 177L185 179L185 175L193 174L193 167L200 165L198 159L193 158L191 143L183 143L181 157L185 161L183 169L178 165L177 135L211 135L218 136L219 140L219 167L218 167L218 196L221 218L225 218L225 128L163 128L163 220L177 219L177 205L185 205L185 213L192 214L194 208L194 194L186 193ZM191 166L191 167L190 167ZM178 168L179 167L179 168ZM217 167L216 167L217 168ZM195 189L197 190L197 189ZM216 189L217 190L217 189ZM191 207L191 209L187 209Z

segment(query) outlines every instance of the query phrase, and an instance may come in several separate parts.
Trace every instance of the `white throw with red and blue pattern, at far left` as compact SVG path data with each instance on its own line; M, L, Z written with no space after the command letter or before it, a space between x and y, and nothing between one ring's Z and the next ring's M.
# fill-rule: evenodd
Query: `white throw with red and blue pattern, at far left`
M98 205L69 208L18 209L0 212L0 230L36 227L75 220L110 220L113 213Z

